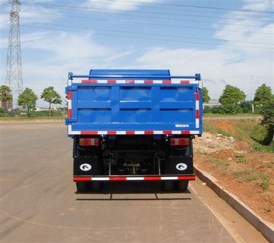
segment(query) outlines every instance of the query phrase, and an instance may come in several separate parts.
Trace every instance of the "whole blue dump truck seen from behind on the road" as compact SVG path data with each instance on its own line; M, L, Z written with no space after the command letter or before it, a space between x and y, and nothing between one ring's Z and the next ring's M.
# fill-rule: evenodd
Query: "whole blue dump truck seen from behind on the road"
M201 75L169 70L92 69L69 73L68 136L78 192L112 181L160 181L185 191L192 139L202 134Z

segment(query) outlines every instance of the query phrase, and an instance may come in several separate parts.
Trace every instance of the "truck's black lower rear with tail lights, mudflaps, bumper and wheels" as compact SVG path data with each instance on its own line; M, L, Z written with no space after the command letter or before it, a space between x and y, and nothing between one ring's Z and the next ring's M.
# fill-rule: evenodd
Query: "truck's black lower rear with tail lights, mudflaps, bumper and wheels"
M164 190L187 189L195 179L193 136L75 136L78 191L101 190L104 181L162 181ZM184 177L185 176L185 177Z

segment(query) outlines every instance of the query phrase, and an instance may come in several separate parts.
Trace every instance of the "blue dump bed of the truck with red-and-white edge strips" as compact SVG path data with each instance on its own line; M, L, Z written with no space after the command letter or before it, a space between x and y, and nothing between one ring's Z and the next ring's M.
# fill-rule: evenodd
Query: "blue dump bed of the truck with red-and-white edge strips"
M200 75L169 70L69 73L69 136L202 133Z

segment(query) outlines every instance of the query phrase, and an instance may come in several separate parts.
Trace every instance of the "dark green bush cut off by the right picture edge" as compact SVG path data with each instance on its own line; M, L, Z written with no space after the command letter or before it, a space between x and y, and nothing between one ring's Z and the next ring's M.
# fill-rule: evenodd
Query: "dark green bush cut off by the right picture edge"
M273 144L274 149L274 99L270 99L262 106L262 124L266 125L267 135L264 144Z

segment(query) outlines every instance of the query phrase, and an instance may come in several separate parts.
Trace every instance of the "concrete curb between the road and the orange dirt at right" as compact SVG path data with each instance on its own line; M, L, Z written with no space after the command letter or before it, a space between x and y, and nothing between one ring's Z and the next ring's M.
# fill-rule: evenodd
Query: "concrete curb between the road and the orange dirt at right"
M217 179L209 175L207 172L200 170L195 166L194 168L195 175L199 177L206 185L213 190L218 196L221 197L227 204L229 204L238 214L240 214L243 218L245 218L253 227L255 227L258 231L264 235L266 240L269 242L274 242L274 225L270 222L266 222L263 220L258 214L253 212L253 210L248 207L245 203L240 201L237 196L228 192L223 188L219 183L217 183Z

